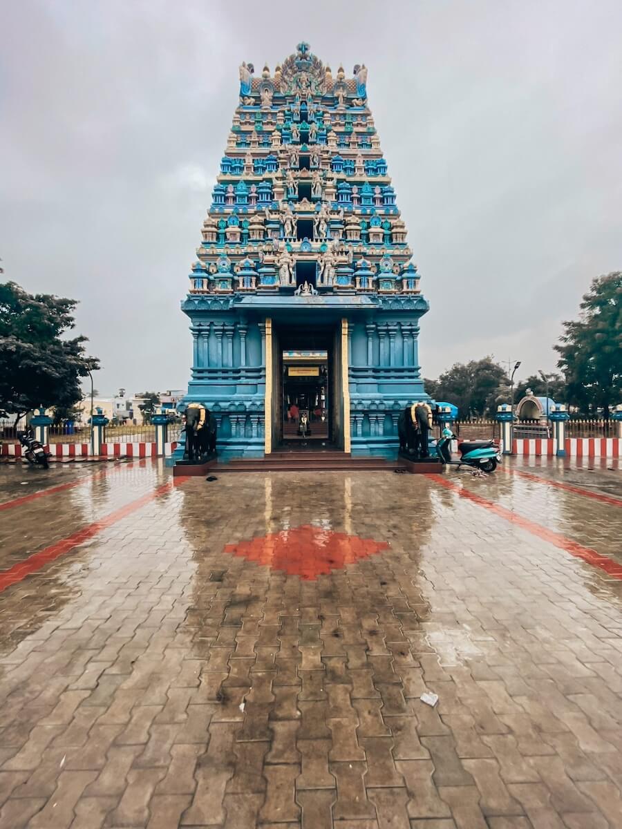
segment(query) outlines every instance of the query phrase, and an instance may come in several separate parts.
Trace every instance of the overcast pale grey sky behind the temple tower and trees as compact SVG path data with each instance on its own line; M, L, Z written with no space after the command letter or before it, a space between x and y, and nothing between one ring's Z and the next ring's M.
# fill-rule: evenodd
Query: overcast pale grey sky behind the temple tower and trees
M238 65L305 39L368 94L431 311L425 376L555 364L561 319L622 267L620 0L2 0L0 256L80 300L101 392L182 388L179 301ZM523 372L521 371L521 374Z

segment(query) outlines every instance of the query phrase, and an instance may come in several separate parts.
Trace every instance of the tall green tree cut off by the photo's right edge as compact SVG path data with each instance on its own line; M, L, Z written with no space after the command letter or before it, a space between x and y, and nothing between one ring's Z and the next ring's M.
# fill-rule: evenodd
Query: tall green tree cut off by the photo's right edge
M568 402L609 418L622 400L622 272L593 279L579 308L579 319L564 322L557 366L566 376Z

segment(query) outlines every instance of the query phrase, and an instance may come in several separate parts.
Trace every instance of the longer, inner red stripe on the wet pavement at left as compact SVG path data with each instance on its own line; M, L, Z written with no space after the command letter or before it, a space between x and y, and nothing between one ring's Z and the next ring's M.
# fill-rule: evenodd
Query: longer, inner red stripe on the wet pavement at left
M137 498L136 501L131 501L129 504L125 504L124 507L110 512L109 515L100 518L100 521L93 521L92 524L87 524L81 530L72 533L61 541L56 541L56 544L52 544L46 547L45 550L40 550L38 553L31 555L27 560L13 565L8 570L0 573L0 593L2 593L2 590L6 590L11 584L17 584L18 581L25 579L27 575L36 573L37 570L41 570L41 567L73 550L77 545L84 544L85 541L96 536L98 532L116 524L117 521L121 521L121 519L131 515L132 512L139 510L140 507L144 507L145 504L153 501L154 498L171 491L173 487L177 487L180 483L184 483L187 480L187 475L173 478L173 481L163 483L160 487L156 487L153 492L148 492L143 497Z

